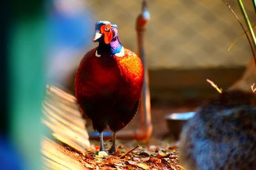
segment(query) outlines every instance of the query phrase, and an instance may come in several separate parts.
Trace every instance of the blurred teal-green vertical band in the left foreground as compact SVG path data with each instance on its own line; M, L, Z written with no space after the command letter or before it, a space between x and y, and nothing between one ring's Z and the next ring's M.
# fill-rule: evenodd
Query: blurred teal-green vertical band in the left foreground
M12 27L8 44L10 137L25 160L26 169L39 170L42 169L41 102L45 91L43 2L15 1L11 4Z

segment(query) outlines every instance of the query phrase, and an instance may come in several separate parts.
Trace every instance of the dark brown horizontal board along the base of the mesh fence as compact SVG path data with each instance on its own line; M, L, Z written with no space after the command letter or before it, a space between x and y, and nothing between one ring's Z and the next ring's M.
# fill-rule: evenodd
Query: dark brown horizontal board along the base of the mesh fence
M244 67L214 67L150 70L151 99L163 102L208 99L218 92L206 82L207 78L214 81L218 87L227 90L242 76L244 69Z

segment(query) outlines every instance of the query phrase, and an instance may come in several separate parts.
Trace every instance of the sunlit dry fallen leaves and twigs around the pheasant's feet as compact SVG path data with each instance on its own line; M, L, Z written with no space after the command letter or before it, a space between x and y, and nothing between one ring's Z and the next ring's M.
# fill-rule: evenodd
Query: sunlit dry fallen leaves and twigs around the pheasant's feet
M177 146L136 146L130 150L118 146L118 151L113 155L106 152L86 152L77 155L74 150L72 152L88 169L184 169L179 164Z

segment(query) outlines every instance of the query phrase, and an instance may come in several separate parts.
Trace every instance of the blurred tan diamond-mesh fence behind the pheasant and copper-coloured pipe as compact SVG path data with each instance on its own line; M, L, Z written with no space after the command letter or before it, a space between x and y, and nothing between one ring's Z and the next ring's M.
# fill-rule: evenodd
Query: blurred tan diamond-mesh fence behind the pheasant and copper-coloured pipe
M141 1L85 2L93 20L118 24L122 44L137 51L135 21L141 12ZM228 3L243 21L236 1ZM244 3L254 25L252 3ZM149 0L148 8L151 20L145 33L145 48L150 69L245 66L252 56L245 36L227 51L243 30L221 0Z

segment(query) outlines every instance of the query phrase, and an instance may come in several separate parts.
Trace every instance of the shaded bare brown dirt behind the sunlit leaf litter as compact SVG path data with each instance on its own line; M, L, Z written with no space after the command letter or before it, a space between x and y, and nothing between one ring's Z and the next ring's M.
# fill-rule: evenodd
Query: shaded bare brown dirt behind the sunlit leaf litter
M153 124L153 132L147 145L163 145L163 143L175 143L176 140L172 134L169 133L168 125L166 122L166 115L170 113L182 113L187 111L195 111L200 104L204 103L202 99L195 99L193 101L153 101L151 104L151 116ZM132 121L124 128L124 130L137 129L140 126L140 113L137 113ZM93 131L92 122L87 120L86 127L88 131ZM122 130L121 130L122 131ZM118 140L120 144L131 143L129 141ZM98 145L98 141L91 140L95 145ZM140 141L134 141L140 143ZM170 144L170 145L171 145Z

